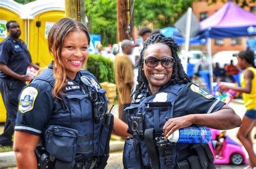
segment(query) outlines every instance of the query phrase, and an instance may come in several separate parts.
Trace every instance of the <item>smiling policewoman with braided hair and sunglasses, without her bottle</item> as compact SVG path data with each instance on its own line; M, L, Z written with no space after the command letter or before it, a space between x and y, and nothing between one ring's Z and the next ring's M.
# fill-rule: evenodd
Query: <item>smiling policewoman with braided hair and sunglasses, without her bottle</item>
M215 129L241 125L230 107L190 83L177 50L173 39L161 34L144 43L138 85L131 106L125 109L133 133L125 143L125 168L214 168L207 144L176 144L166 138L192 124Z

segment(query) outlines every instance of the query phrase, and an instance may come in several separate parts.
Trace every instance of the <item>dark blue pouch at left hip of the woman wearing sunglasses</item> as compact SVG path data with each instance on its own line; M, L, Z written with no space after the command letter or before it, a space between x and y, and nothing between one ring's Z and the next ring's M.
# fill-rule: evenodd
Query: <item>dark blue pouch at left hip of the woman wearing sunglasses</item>
M142 168L142 161L137 139L127 138L124 144L123 164L125 169Z

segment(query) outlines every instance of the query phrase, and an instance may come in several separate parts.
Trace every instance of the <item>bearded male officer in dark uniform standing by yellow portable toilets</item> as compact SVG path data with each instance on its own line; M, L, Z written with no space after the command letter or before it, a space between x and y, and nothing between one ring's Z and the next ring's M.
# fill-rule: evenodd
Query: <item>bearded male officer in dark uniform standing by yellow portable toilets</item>
M0 146L12 146L18 95L25 86L28 66L39 68L31 62L26 44L19 39L21 29L15 20L6 23L9 36L0 43L0 90L6 108L4 132L0 136Z

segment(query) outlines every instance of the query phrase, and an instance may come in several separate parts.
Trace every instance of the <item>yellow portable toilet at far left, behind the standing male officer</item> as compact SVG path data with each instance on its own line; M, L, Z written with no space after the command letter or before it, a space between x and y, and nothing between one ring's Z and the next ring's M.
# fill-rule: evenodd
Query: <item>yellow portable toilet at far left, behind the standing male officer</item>
M8 32L6 30L5 24L9 20L16 20L21 27L21 39L26 43L26 20L25 12L22 9L21 4L18 4L15 1L0 1L0 42L8 37ZM0 93L0 122L5 122L6 120L6 110Z

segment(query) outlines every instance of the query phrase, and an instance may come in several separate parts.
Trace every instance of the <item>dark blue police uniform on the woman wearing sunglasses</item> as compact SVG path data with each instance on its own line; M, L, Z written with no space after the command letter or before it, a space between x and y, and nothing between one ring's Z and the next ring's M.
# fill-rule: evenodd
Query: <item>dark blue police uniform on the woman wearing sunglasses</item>
M133 139L125 142L124 167L214 168L207 144L170 143L160 138L169 118L212 113L224 104L193 83L170 85L153 95L149 89L143 90L125 109ZM153 137L148 135L150 129L154 129Z

